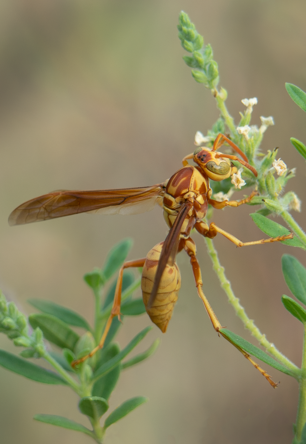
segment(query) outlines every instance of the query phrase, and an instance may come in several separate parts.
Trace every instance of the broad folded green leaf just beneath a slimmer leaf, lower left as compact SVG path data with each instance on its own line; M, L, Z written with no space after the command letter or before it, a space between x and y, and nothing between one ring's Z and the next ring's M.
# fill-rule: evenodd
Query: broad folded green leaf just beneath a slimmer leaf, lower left
M51 314L30 314L29 322L33 329L39 327L48 341L62 349L73 350L79 340L79 335L76 332Z

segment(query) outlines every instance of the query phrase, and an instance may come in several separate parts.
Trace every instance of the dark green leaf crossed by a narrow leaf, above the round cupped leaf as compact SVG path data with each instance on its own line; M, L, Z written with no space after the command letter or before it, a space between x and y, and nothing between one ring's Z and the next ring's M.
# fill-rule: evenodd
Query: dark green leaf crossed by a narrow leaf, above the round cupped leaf
M120 348L118 344L111 344L107 349L103 349L101 353L101 358L99 360L99 366L104 362L109 361L111 358L116 356L120 352ZM95 382L95 385L92 389L93 396L100 396L108 400L111 396L111 392L115 389L115 385L120 376L121 366L118 364L114 369L108 372L103 377L99 378L98 381Z

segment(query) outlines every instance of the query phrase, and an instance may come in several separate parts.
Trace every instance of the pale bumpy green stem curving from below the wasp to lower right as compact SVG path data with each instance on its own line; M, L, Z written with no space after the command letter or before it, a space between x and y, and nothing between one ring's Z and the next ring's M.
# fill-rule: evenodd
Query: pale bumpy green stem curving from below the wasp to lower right
M295 375L296 378L300 376L300 369L291 362L288 358L286 358L276 347L274 344L269 342L266 339L266 335L261 333L261 331L258 329L258 327L254 324L254 321L250 319L245 309L242 307L242 305L239 302L238 297L234 295L234 292L231 288L230 281L228 281L227 277L224 273L224 267L221 266L218 258L217 251L215 250L214 244L211 239L205 238L205 242L207 245L208 254L211 257L211 261L213 263L213 269L215 270L217 276L219 277L219 281L221 284L221 287L225 291L228 297L228 301L230 304L234 307L235 313L241 319L243 325L246 329L250 331L250 333L257 339L259 344L261 344L267 352L269 352L272 356L274 356L279 362L281 362L283 365L287 367L287 369L290 369Z

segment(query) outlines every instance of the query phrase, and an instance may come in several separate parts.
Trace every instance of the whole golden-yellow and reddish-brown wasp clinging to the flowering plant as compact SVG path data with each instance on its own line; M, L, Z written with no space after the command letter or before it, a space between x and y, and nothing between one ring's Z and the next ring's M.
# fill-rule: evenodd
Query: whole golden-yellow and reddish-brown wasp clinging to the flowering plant
M237 155L218 153L217 150L225 142L242 159ZM192 159L196 166L189 165L187 162L189 159ZM277 238L241 242L233 235L216 226L214 222L211 222L208 226L203 221L208 205L216 209L222 209L225 206L237 207L250 202L254 195L257 194L256 191L253 191L249 197L240 201L224 200L219 202L211 199L212 190L209 186L209 179L221 181L237 173L237 167L234 166L231 160L238 161L257 176L257 171L248 163L248 159L242 151L225 135L219 134L212 149L207 147L196 148L194 153L184 157L182 161L183 168L163 183L118 190L54 191L29 200L12 212L9 217L9 224L20 225L83 212L139 214L152 210L156 203L163 208L163 216L170 228L167 238L164 242L155 245L149 251L146 258L123 264L119 271L111 315L107 320L99 345L89 355L74 361L73 365L85 361L87 357L93 356L98 349L103 347L112 319L115 316L120 317L121 287L123 270L125 268L143 267L141 289L144 305L151 320L163 333L166 332L180 289L181 277L175 258L176 254L181 250L185 250L190 256L199 297L203 301L214 329L222 334L220 332L222 326L203 293L201 270L196 258L195 242L190 237L191 230L195 228L200 234L208 238L214 238L217 233L223 234L223 236L239 247L283 241L293 237L292 234L288 234L278 236ZM230 341L226 336L224 337ZM244 350L235 344L233 345L268 379L271 385L275 386L269 375Z

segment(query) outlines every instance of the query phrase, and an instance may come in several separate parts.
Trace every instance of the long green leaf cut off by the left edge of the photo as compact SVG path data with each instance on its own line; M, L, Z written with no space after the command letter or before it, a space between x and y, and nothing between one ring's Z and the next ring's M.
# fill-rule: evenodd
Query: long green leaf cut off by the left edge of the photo
M25 361L5 350L0 350L0 365L5 369L18 373L28 379L32 379L32 381L43 382L44 384L67 385L67 382L56 373L33 364L32 362Z

